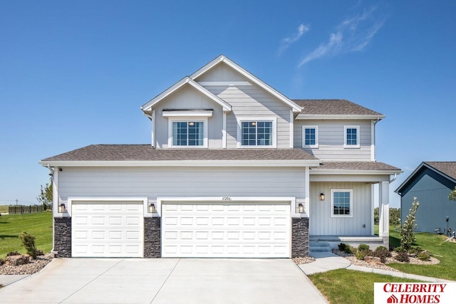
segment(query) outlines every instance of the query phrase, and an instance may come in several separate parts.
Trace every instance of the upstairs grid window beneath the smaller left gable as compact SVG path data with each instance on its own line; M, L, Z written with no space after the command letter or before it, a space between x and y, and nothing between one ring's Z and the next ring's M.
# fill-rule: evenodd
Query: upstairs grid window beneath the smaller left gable
M204 146L204 122L202 121L173 121L173 146Z

